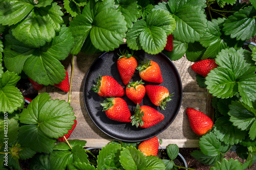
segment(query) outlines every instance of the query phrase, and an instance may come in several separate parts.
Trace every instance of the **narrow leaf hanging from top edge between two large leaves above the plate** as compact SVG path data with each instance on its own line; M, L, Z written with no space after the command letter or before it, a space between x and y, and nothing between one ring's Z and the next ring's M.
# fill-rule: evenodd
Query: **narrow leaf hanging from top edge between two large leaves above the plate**
M127 22L127 28L131 29L133 27L133 22L137 20L138 5L135 0L116 0L116 9L122 13Z

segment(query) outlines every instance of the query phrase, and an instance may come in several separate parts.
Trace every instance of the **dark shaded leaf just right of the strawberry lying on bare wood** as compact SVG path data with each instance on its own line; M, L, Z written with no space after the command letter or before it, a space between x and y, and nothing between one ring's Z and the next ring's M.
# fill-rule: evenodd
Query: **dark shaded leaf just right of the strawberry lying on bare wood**
M214 131L220 141L230 145L238 144L247 134L246 131L234 127L229 122L229 116L219 117L215 122Z

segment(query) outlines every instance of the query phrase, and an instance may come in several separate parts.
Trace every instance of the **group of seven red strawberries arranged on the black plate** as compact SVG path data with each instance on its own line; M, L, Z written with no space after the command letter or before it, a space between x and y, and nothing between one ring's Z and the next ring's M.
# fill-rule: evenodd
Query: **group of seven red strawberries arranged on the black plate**
M156 109L141 105L145 96L148 95L150 101L159 106L161 109L167 107L166 103L170 101L173 94L169 94L166 87L161 85L145 85L144 82L158 83L163 82L161 69L155 61L141 61L138 65L137 58L124 50L117 59L117 69L121 77L122 83L126 86L125 89L113 77L99 75L96 78L96 84L93 84L92 90L99 96L106 98L101 106L106 116L118 122L132 123L137 128L149 128L164 119L164 115ZM133 82L132 77L135 70L139 70L140 81ZM126 95L136 106L134 114L129 110L126 101L122 96Z

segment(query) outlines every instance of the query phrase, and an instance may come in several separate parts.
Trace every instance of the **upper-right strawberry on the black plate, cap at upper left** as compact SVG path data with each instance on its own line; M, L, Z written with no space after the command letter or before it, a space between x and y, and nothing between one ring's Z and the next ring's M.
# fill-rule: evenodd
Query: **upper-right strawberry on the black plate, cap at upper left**
M140 78L152 82L152 83L162 83L163 78L159 65L155 61L145 59L136 68L139 70Z

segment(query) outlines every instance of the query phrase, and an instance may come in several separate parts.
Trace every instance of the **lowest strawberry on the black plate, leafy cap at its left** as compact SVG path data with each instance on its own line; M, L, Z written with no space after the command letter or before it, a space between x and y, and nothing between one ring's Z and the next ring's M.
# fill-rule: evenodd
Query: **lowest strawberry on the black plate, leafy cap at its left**
M141 128L152 127L164 119L164 115L150 106L137 104L135 114L131 117L132 125Z

